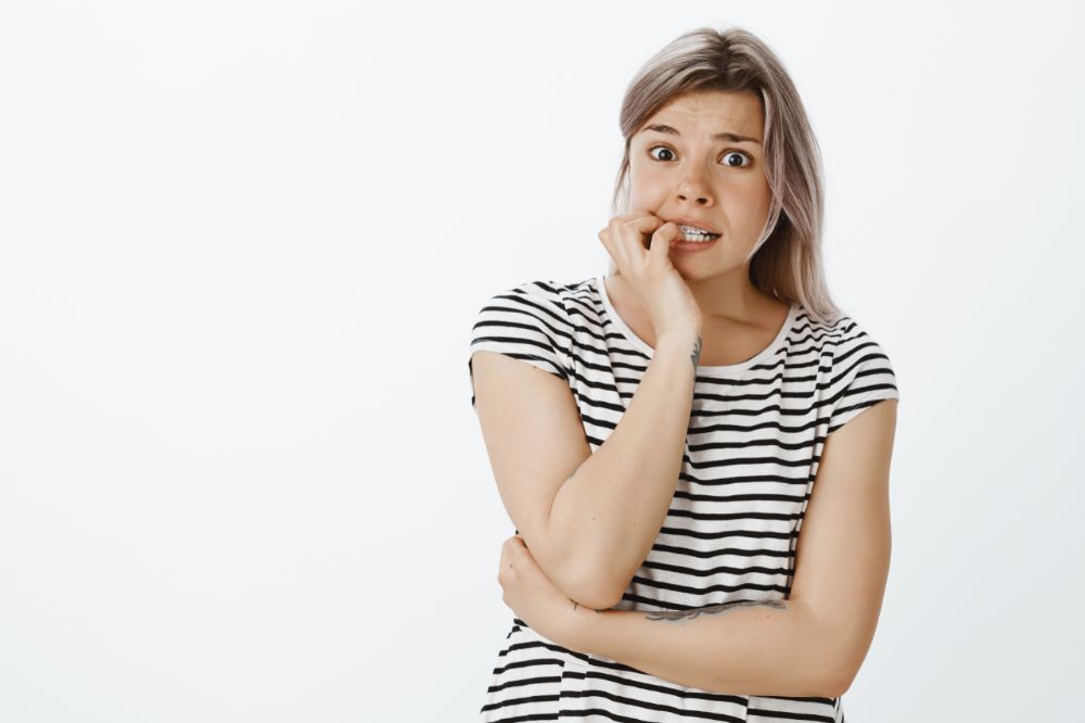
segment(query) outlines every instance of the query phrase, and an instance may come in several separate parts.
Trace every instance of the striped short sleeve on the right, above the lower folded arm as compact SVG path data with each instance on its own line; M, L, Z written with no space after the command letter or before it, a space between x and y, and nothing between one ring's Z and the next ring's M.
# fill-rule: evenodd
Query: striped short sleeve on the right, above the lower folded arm
M899 399L893 365L881 345L854 320L841 321L835 345L826 435L882 399Z

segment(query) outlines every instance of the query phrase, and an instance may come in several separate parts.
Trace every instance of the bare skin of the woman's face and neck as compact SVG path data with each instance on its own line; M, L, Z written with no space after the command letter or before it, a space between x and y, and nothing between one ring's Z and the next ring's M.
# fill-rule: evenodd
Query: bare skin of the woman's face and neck
M680 135L649 129L664 124ZM705 221L723 233L707 250L672 248L671 261L703 317L702 364L737 364L767 346L783 325L788 304L750 281L745 257L771 205L764 167L764 113L750 92L704 91L673 100L629 140L629 207L664 220ZM753 141L714 140L730 131ZM608 295L634 333L655 344L654 330L621 275L607 278Z

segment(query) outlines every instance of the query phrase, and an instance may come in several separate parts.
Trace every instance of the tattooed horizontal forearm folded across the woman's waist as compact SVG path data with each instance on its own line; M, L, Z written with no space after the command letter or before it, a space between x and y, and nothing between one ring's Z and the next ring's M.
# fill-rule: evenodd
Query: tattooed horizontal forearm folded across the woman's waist
M713 693L835 697L831 644L795 600L726 602L676 612L571 605L556 643Z

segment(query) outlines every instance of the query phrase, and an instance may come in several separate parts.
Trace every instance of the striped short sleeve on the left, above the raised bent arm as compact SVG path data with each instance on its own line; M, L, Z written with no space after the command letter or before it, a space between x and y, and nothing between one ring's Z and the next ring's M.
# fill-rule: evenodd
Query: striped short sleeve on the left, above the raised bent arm
M492 296L475 315L468 351L471 406L474 407L475 352L498 352L569 381L571 331L560 288L525 281Z

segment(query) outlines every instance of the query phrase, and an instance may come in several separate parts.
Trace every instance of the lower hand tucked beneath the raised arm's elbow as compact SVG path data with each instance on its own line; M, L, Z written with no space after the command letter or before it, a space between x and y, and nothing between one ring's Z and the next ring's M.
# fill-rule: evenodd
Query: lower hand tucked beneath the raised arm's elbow
M501 545L501 569L497 582L502 599L532 630L554 643L563 638L573 601L546 576L520 533Z

